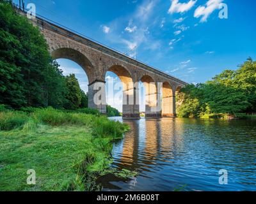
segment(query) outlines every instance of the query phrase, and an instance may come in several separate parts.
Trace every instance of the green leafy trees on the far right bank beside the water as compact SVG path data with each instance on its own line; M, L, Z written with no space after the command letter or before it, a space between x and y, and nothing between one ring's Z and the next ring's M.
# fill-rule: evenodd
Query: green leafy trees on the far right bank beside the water
M179 117L244 118L241 113L256 111L256 62L248 59L236 71L225 70L205 84L188 85L177 101Z

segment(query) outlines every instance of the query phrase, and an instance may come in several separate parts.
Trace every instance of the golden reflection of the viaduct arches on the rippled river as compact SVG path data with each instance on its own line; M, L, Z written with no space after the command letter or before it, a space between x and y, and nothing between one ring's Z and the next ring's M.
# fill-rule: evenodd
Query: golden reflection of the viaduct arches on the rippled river
M182 145L182 128L179 120L125 120L131 131L125 134L118 166L130 170L150 171L157 163L172 162L172 149ZM150 166L150 167L149 167Z

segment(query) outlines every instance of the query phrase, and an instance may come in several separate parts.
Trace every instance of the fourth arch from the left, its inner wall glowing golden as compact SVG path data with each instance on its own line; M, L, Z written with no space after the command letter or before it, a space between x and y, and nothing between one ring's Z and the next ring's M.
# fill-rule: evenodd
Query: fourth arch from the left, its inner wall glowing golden
M173 117L173 88L169 82L163 83L162 116L163 117Z

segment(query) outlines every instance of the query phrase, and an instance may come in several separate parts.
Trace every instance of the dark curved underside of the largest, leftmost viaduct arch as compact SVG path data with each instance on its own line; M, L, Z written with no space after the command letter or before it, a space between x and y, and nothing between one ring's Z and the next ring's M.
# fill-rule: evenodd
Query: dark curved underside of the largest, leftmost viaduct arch
M73 48L58 48L51 52L52 59L69 59L81 66L87 77L89 84L93 82L93 65L92 62L81 52Z

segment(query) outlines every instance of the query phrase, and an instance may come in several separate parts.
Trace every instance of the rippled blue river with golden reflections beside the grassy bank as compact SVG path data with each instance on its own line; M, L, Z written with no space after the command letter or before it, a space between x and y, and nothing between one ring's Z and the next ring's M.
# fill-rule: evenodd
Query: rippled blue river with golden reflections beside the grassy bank
M104 191L256 191L256 120L111 119L131 126L112 165L138 175L106 175Z

